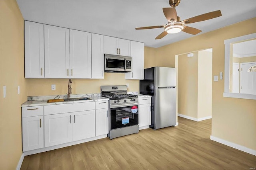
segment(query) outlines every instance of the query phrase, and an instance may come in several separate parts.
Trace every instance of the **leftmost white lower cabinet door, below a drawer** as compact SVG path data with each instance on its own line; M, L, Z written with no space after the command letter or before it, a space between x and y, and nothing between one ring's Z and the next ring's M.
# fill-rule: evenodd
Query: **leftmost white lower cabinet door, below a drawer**
M44 116L22 118L23 152L44 147Z

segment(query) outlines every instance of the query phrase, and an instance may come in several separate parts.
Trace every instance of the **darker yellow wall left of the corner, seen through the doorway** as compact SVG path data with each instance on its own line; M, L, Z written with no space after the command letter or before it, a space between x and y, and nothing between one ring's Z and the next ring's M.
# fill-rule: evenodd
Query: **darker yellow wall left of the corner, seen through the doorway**
M178 113L197 118L198 52L178 56ZM189 97L188 97L189 96Z

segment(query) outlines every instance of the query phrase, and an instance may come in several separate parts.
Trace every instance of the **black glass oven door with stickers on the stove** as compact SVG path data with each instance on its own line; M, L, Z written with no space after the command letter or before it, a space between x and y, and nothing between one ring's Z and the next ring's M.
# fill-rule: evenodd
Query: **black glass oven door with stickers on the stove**
M110 108L110 130L138 125L138 105Z

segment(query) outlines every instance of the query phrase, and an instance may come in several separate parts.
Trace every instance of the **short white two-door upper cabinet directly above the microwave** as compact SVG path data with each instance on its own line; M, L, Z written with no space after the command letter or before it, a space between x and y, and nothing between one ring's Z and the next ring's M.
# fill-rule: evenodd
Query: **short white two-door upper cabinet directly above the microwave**
M131 56L131 41L104 36L104 53Z

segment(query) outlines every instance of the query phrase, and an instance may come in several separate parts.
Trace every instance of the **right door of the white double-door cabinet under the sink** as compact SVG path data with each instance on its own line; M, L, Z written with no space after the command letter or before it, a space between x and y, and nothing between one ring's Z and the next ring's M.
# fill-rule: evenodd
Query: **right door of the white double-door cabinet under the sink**
M73 141L95 137L95 110L75 112L72 118Z

